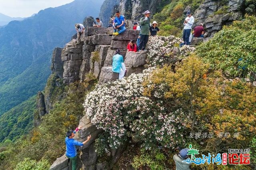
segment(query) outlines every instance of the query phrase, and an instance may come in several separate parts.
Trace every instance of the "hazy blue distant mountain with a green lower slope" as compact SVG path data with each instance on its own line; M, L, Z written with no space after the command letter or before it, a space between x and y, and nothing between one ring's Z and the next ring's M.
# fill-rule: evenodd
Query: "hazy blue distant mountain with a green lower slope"
M74 0L0 28L0 115L44 88L52 50L76 33L75 23L98 17L103 1Z

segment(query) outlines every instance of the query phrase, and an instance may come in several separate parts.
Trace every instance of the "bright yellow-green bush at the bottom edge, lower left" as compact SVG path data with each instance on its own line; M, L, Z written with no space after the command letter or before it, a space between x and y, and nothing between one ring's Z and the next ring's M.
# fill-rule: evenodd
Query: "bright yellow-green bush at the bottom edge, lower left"
M47 160L31 160L25 158L22 162L19 162L14 170L46 170L50 168L50 164Z

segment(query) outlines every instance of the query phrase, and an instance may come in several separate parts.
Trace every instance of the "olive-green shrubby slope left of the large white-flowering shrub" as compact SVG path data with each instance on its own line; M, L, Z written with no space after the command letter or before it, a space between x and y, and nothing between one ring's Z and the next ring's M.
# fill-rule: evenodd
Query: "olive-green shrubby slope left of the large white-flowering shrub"
M95 80L88 79L87 83L93 89ZM52 163L57 157L63 155L66 149L64 143L66 131L74 129L82 118L83 97L88 92L88 87L79 83L66 86L64 90L64 93L67 93L66 98L54 104L50 113L44 115L38 128L34 128L30 133L27 131L26 138L24 137L13 143L12 147L7 150L4 161L0 161L1 166L5 170L14 169L14 166L24 158L29 158L32 161L20 162L20 166L25 165L26 162L34 166L34 161L37 162L42 159ZM62 91L55 90L56 92ZM42 162L36 164L36 168L38 167L42 167L42 169L49 168L49 166L44 168Z

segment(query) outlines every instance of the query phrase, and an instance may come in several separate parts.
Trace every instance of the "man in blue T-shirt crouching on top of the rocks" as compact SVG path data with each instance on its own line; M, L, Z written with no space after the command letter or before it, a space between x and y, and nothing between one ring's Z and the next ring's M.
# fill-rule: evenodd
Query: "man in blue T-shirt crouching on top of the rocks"
M121 16L119 11L116 11L116 18L113 22L113 28L114 28L113 35L118 35L120 33L123 33L126 30L125 23L124 23L124 16Z

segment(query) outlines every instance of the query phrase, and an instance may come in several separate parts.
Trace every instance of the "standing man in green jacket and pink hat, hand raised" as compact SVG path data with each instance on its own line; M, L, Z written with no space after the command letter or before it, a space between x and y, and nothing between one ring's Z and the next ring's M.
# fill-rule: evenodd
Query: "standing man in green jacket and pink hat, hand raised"
M140 46L139 51L145 50L146 44L148 43L149 38L149 28L150 28L150 14L151 12L149 10L146 10L143 13L145 16L140 18Z

